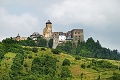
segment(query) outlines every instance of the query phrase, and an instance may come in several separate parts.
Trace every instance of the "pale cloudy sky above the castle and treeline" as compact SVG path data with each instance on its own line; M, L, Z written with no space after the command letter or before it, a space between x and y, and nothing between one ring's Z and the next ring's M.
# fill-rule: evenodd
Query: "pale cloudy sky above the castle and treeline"
M48 20L53 32L83 29L85 40L120 51L120 0L0 0L0 40L42 34Z

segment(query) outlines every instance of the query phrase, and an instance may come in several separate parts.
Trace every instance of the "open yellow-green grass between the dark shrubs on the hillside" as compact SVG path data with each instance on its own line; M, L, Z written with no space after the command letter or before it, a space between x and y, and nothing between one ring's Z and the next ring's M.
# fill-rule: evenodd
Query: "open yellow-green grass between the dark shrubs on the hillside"
M26 57L24 58L24 64L26 63L27 67L23 66L22 68L22 71L24 73L29 74L29 72L31 71L31 65L32 65L33 59L41 55L49 55L59 60L59 62L57 62L56 74L60 74L63 60L69 59L71 62L71 65L68 66L68 68L70 69L71 75L72 75L72 79L70 80L80 80L81 73L83 73L82 80L95 80L99 75L101 77L101 80L106 80L106 78L109 78L113 75L113 72L120 73L118 69L101 69L100 72L93 70L92 68L82 69L80 65L83 63L85 63L85 65L88 65L93 58L82 58L81 60L75 60L74 56L69 54L64 54L64 53L53 54L50 49L46 49L46 51L41 51L39 47L38 49L39 50L37 53L30 52L29 54L26 54ZM1 66L0 66L0 80L1 80L1 77L8 75L15 56L16 54L11 52L4 55L4 58L2 59ZM28 56L32 56L32 58L29 59ZM98 60L102 60L102 59L98 59ZM117 65L117 66L119 65L119 63L115 60L108 60L108 59L105 59L105 60L113 63L114 65Z

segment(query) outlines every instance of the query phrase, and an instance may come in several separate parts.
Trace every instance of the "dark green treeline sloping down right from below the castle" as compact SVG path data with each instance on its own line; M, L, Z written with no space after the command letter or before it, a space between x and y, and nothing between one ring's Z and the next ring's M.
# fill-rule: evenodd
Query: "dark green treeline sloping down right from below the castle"
M92 37L88 38L86 42L78 41L77 46L72 42L66 42L58 45L57 49L84 57L120 60L120 54L117 50L102 47L100 42L98 40L95 42Z

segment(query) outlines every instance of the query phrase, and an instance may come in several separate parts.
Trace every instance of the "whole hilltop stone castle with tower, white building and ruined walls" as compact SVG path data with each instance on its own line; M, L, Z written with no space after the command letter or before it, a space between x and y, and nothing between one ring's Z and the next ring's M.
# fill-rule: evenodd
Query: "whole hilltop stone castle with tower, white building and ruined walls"
M77 44L78 40L80 40L81 42L84 41L83 29L72 29L71 31L68 31L66 33L53 32L52 23L50 22L50 20L46 22L46 26L43 29L43 35L40 35L38 32L34 32L32 35L30 35L30 38L32 38L33 40L37 40L38 37L43 37L47 41L53 39L53 48L56 48L58 44L65 43L66 41L72 41L75 44ZM18 34L18 36L14 37L13 39L20 41L27 40L27 37L20 37Z

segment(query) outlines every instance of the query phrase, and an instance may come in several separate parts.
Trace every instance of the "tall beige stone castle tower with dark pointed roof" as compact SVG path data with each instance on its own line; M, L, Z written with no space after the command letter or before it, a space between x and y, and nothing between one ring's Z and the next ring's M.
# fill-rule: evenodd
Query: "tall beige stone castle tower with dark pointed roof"
M52 38L52 23L50 20L46 22L46 27L43 30L43 37L47 40Z

